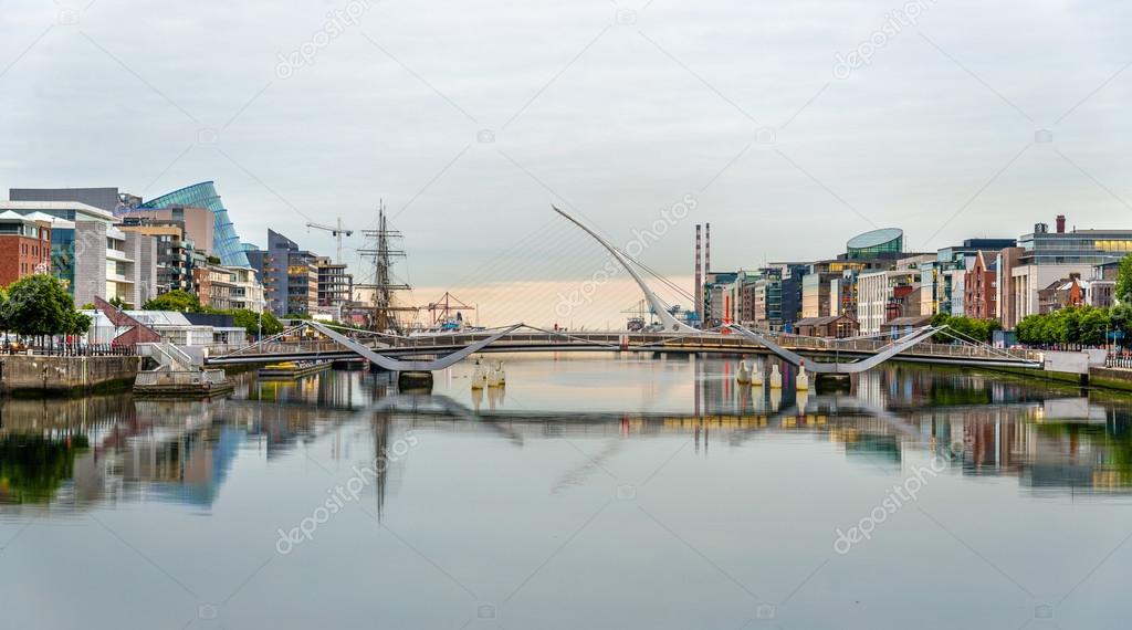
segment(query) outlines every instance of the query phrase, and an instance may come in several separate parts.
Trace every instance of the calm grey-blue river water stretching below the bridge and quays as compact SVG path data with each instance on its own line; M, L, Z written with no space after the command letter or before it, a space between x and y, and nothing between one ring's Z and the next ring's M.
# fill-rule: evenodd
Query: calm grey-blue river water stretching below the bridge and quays
M0 627L1127 627L1127 398L507 361L483 395L463 364L3 402Z

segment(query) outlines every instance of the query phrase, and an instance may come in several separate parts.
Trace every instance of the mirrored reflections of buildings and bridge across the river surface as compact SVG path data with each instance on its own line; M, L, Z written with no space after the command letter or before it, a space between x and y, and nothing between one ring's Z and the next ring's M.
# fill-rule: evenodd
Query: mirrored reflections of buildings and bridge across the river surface
M899 469L909 450L920 450L945 455L963 475L1014 476L1032 492L1132 487L1132 407L1095 392L908 366L860 374L849 391L833 392L794 391L789 369L783 389L738 386L732 363L722 360L566 361L551 376L547 369L543 359L509 362L509 391L465 389L457 366L426 396L398 394L385 374L323 372L295 382L242 374L237 394L216 402L8 399L0 403L0 502L82 508L148 500L207 510L241 457L271 461L326 440L329 465L353 463L383 452L400 424L516 448L548 437L608 437L551 492L586 483L632 440L687 434L693 452L709 456L773 433L827 440L850 461L882 469ZM577 387L624 374L643 376L608 390ZM575 411L583 395L594 411ZM560 403L571 397L578 404ZM627 411L604 411L607 404ZM387 476L375 484L379 516Z

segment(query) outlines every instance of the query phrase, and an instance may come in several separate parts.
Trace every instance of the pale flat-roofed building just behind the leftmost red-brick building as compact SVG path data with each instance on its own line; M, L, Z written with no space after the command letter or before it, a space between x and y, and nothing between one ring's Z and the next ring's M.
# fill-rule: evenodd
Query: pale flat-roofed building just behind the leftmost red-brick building
M76 304L97 295L140 305L157 294L157 245L152 236L121 231L113 214L79 201L0 201L0 213L51 225L51 273Z

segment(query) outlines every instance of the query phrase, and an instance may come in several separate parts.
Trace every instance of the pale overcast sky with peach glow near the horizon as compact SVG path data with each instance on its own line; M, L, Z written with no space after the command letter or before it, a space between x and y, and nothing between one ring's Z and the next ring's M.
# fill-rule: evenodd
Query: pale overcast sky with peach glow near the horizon
M715 269L832 257L875 227L914 251L1057 214L1132 227L1130 18L1117 1L3 0L0 189L213 180L248 242L272 227L333 253L306 223L341 217L359 275L384 202L406 300L600 327L640 292L593 282L603 252L551 204L641 241L685 291L696 223Z

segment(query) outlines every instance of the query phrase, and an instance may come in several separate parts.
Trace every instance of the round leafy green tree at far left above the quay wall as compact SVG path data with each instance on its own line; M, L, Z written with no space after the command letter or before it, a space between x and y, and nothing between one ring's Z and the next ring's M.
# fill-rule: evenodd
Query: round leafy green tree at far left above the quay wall
M0 319L19 335L63 335L78 323L74 318L75 301L53 276L24 276L8 285L7 297Z

